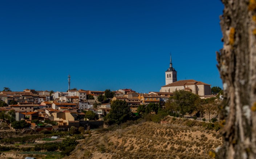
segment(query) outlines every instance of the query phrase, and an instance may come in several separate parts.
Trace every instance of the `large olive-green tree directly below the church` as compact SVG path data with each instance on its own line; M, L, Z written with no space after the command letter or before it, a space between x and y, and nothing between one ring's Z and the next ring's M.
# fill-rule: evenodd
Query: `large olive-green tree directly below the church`
M195 110L195 101L199 99L199 95L185 90L174 91L174 95L170 97L172 102L177 105L177 111L184 117L186 113L192 113Z

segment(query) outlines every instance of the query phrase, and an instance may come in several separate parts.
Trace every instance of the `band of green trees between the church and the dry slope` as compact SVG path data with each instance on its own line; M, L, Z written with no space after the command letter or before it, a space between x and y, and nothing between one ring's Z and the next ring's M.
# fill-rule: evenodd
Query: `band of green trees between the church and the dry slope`
M169 98L166 103L150 103L146 105L139 105L135 116L131 113L128 103L122 100L115 100L111 104L110 113L105 117L107 125L121 124L128 120L143 119L145 121L159 122L165 116L170 115L174 117L184 117L184 115L194 114L194 119L199 117L207 117L209 121L214 123L216 118L211 119L212 114L218 114L220 111L220 101L217 98L201 99L198 95L184 91L174 91L174 95ZM203 118L205 121L205 118ZM208 125L213 128L215 125ZM218 126L217 126L218 127ZM217 129L217 128L216 128Z

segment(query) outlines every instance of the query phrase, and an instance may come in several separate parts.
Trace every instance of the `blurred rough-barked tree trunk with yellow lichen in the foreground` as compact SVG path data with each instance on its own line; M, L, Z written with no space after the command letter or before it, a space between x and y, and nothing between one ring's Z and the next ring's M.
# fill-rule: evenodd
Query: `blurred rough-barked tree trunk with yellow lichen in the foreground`
M220 25L223 49L217 52L223 80L220 123L222 148L217 159L252 159L256 156L256 1L222 0Z

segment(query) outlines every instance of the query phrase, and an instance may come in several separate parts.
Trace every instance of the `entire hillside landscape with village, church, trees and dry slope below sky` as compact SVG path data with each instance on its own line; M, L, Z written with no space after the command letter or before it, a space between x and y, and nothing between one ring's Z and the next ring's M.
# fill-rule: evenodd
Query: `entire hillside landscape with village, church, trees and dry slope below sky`
M211 158L222 144L220 88L177 81L171 57L165 80L149 93L70 89L70 76L66 92L4 87L0 158Z

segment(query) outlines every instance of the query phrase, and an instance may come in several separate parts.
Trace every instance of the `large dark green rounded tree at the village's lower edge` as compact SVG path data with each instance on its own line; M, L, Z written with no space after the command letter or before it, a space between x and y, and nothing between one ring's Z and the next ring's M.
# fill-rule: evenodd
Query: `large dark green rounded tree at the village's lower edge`
M106 115L105 121L107 124L121 124L130 120L132 116L131 109L128 103L123 100L115 100L111 104L110 112Z

